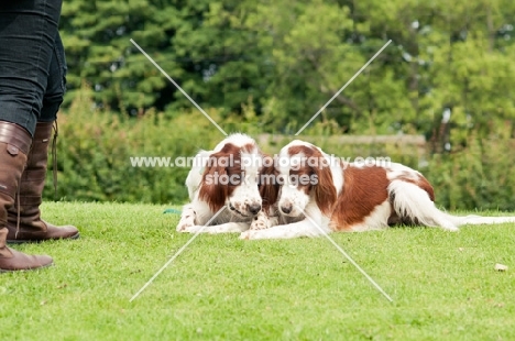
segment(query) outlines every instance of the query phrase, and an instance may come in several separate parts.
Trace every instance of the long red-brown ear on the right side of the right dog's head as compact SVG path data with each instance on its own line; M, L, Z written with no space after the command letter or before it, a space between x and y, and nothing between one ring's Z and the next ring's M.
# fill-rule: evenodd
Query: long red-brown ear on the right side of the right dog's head
M321 154L319 160L326 160ZM332 207L337 201L337 190L332 180L331 168L327 164L320 164L314 167L318 183L315 185L315 199L320 211L330 216Z

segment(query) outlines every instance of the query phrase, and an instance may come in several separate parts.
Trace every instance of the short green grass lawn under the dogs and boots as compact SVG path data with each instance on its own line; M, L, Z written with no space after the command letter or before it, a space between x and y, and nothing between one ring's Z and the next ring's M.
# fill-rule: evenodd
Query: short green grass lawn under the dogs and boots
M45 204L81 239L14 245L56 265L0 275L0 338L515 340L513 224L331 234L394 302L325 238L235 234L199 235L130 302L191 238L166 208Z

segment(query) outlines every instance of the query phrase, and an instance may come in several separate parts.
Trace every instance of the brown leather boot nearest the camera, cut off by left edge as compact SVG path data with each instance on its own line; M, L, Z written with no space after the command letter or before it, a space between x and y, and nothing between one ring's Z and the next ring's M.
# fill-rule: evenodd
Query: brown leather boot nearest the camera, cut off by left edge
M50 256L26 255L6 245L8 209L14 204L32 138L23 128L0 121L0 273L52 265Z

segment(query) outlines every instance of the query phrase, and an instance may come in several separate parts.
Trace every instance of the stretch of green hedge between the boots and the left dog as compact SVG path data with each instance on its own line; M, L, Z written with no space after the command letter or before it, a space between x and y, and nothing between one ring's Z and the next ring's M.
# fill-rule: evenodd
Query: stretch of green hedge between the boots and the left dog
M189 168L135 167L131 157L194 156L220 138L197 112L176 119L147 113L127 118L91 110L88 99L76 100L59 117L57 199L95 201L178 202L185 200ZM216 118L216 112L211 112ZM53 198L51 174L45 187Z

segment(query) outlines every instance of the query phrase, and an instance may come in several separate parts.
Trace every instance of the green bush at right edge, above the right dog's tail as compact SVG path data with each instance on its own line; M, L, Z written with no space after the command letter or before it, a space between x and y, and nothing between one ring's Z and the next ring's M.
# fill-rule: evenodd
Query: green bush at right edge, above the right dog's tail
M479 140L472 135L463 151L432 155L424 173L435 187L439 206L449 209L513 210L513 160L515 140Z

